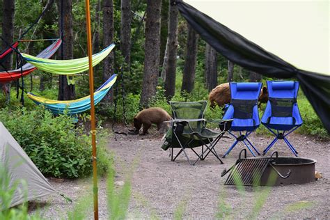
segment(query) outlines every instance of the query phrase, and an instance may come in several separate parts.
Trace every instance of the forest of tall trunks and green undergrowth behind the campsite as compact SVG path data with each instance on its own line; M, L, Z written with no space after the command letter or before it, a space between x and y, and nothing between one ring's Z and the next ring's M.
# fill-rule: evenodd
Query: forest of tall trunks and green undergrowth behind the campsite
M1 36L7 42L19 39L22 33L36 22L46 7L48 10L45 15L32 26L23 40L62 37L63 44L53 58L71 59L86 56L84 1L1 1ZM91 0L91 17L93 53L100 52L111 43L116 45L113 52L94 68L95 88L102 85L111 74L118 74L116 85L96 106L99 127L104 121L109 120L129 125L136 113L146 107L162 107L171 113L168 101L207 100L212 88L228 81L262 81L265 85L267 80L276 80L245 70L217 54L187 25L178 14L178 9L171 6L169 0ZM50 43L20 42L19 51L36 55ZM6 47L6 43L2 42L2 49ZM15 59L14 54L3 64L5 68L15 68ZM88 95L88 72L74 76L74 81L74 84L69 85L65 76L35 70L24 77L24 88L26 91L54 100L74 100ZM22 85L22 80L19 84ZM6 125L21 146L24 146L28 155L34 158L33 162L38 168L47 168L58 160L58 166L42 170L42 173L68 178L77 178L88 173L90 165L86 164L89 152L79 155L74 151L85 144L88 146L84 128L75 128L69 116L52 116L29 99L25 98L22 107L19 98L17 99L17 94L22 91L16 87L15 81L3 85L4 91L10 91L10 95L0 95L0 121ZM297 132L329 139L329 134L301 91L298 95L298 104L304 124ZM263 109L265 104L261 106L260 116ZM86 111L82 114L81 120L87 120L88 113ZM221 116L221 108L213 111L207 108L207 118L215 119ZM35 133L32 136L31 130ZM268 134L262 126L257 129L257 133ZM52 138L49 134L52 134ZM76 140L77 134L80 142ZM101 139L106 136L102 132L100 134ZM65 139L63 136L66 136ZM58 139L63 141L57 141ZM66 152L68 146L72 148L72 154L69 155ZM54 152L58 149L63 149L63 154L56 158L40 157L40 154L49 157L56 155ZM65 166L63 155L66 155ZM74 168L70 170L67 166Z

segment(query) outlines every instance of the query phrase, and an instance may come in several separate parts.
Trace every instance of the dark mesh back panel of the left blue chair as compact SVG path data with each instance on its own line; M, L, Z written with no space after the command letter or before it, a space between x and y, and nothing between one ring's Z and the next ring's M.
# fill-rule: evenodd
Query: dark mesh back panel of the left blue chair
M248 119L253 118L253 107L258 104L258 100L231 100L235 109L234 118Z

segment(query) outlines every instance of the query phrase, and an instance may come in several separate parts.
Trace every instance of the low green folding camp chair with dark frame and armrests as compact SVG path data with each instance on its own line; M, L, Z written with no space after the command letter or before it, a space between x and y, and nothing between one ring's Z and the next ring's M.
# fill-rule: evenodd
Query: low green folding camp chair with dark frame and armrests
M207 122L204 119L206 101L170 102L170 105L173 113L172 126L166 133L162 148L163 150L171 148L171 161L175 161L183 152L189 164L194 165L198 160L204 160L211 152L223 164L214 146L229 129L230 123L228 122L231 120L218 120L217 123L219 123L221 131L214 132L206 128ZM194 149L197 147L202 148L200 154ZM175 157L173 157L173 148L180 148ZM198 158L194 163L189 159L187 149L192 150L197 155Z

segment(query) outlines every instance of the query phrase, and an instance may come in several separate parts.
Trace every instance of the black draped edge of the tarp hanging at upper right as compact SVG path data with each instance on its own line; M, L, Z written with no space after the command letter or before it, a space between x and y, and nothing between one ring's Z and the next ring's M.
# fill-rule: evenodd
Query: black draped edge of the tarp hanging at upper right
M175 4L201 38L228 60L267 77L297 78L302 91L330 133L330 76L299 70L189 4L182 1L175 1Z

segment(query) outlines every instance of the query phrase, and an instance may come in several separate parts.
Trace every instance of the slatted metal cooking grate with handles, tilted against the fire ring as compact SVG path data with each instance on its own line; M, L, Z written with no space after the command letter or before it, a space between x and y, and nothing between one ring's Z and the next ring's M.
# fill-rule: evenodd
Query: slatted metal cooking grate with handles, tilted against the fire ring
M243 151L245 152L245 158L241 158ZM277 152L274 153L276 153L277 157ZM230 167L228 171L224 169L221 173L221 177L231 171L225 185L258 186L260 185L262 174L267 166L272 166L272 160L272 157L246 158L246 149L243 149L239 153L239 159L237 159L236 164ZM272 168L274 168L274 166L272 166ZM276 171L275 168L274 170ZM276 171L276 173L278 173L278 171ZM290 171L287 176L283 176L281 173L278 173L278 175L281 178L288 178Z

